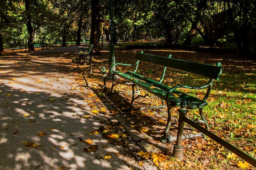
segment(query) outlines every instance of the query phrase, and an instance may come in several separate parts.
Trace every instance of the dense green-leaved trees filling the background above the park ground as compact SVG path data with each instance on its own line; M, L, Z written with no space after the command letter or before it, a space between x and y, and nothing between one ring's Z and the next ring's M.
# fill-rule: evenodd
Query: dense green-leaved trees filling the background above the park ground
M256 49L255 0L110 0L115 40L164 40L207 46L232 44L244 57ZM109 0L0 0L0 51L6 45L86 42L99 53L110 38ZM230 47L230 46L229 46Z

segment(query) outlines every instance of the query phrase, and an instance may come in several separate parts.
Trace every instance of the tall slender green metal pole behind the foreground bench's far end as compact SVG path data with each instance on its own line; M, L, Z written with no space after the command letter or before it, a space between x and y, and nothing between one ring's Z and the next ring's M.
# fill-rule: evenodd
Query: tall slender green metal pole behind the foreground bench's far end
M114 45L115 45L115 40L114 40L114 26L113 26L113 0L110 0L110 43L109 43L109 50L110 50L110 55L109 55L109 71L108 71L108 76L106 77L107 79L112 79L112 74L111 74L111 66L115 64L115 55L114 55ZM115 67L112 69L113 71L116 70Z

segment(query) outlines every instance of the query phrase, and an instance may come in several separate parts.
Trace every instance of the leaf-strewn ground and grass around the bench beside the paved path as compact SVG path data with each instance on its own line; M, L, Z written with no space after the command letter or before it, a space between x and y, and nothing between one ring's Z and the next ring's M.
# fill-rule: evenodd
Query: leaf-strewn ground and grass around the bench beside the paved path
M133 63L135 55L143 49L115 48L115 60L117 63ZM209 106L205 110L205 115L210 124L210 129L216 135L235 145L240 150L248 153L252 157L256 154L256 61L241 58L236 54L213 54L198 53L196 51L184 51L181 49L147 49L145 53L168 56L172 54L174 58L191 60L215 65L221 62L224 67L222 77L214 83L214 87L209 97ZM83 101L88 103L92 114L101 115L98 120L103 128L98 130L104 139L114 144L119 152L124 155L124 161L131 162L137 160L139 164L133 167L143 167L143 164L150 160L159 169L255 169L247 164L243 159L232 154L212 139L200 137L197 139L184 140L183 161L177 161L171 156L173 144L162 144L160 137L166 123L166 111L163 109L126 111L129 104L130 95L125 93L130 91L129 85L120 84L117 90L118 95L110 95L103 92L103 76L98 68L106 67L108 70L109 51L101 50L100 56L93 56L93 73L89 74L88 65L72 63L74 57L78 57L78 47L56 48L40 50L32 53L18 53L9 55L2 53L1 64L16 61L28 60L33 62L35 58L50 58L52 61L64 60L68 65L67 69L60 71L72 74L75 78L74 84L70 84L71 89L76 86L90 89L93 93L86 90L79 97L84 97ZM148 74L151 78L159 78L161 68L141 64L139 68L141 74ZM65 66L64 66L65 67ZM34 68L34 71L36 67ZM117 67L117 69L127 70L129 68ZM1 68L3 72L5 68ZM32 70L33 71L33 70ZM193 76L184 75L178 71L167 71L164 84L173 86L182 81L195 83L197 80ZM15 81L15 80L12 80ZM35 81L35 84L41 82ZM107 86L110 88L111 82ZM50 85L48 85L50 86ZM72 87L73 86L73 87ZM80 89L80 90L81 90ZM4 93L5 97L11 93ZM6 96L7 95L7 96ZM200 94L198 94L200 95ZM86 99L86 98L90 99ZM48 102L52 98L49 98ZM52 99L54 100L54 99ZM102 105L95 107L97 102ZM137 106L141 104L159 104L156 98L141 99ZM2 103L1 107L9 107ZM173 110L173 115L177 117L177 112ZM196 117L197 112L191 111L189 117ZM86 118L85 118L86 119ZM2 128L6 128L2 127ZM175 135L177 126L171 129L171 134ZM196 130L186 127L187 133L194 133ZM75 131L75 129L74 129ZM39 134L40 135L40 134ZM99 157L98 157L99 158ZM60 166L61 167L61 166Z

